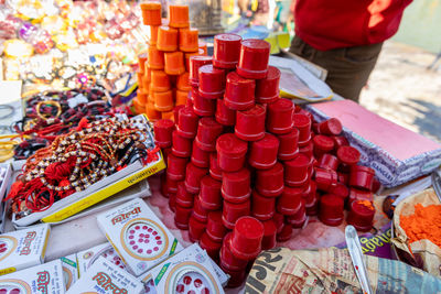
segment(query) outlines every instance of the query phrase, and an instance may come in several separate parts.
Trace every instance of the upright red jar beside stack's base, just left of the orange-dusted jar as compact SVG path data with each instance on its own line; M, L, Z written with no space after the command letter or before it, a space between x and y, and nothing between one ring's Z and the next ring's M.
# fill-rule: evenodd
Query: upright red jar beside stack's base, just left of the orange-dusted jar
M340 226L343 222L344 202L342 197L326 194L320 198L319 219L332 227Z

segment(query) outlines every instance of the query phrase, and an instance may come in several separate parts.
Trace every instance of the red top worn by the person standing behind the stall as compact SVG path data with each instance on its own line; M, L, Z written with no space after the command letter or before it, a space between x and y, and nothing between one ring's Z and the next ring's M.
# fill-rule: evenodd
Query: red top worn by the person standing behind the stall
M295 34L320 51L380 43L412 0L294 0Z

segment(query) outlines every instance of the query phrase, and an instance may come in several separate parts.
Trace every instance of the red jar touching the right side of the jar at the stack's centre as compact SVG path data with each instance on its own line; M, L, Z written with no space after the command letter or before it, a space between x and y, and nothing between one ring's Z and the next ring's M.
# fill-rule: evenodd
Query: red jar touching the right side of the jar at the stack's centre
M250 144L249 164L258 170L268 170L275 166L279 151L279 140L276 135L265 133L260 140Z

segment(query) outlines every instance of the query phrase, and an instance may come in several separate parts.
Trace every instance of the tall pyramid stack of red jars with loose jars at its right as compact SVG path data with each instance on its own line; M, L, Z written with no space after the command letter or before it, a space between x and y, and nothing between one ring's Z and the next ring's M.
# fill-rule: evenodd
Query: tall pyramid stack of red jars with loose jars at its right
M373 179L335 120L313 132L312 116L279 98L281 73L268 66L269 52L261 40L216 35L213 57L190 59L192 95L175 109L175 128L154 124L168 154L162 190L175 225L230 274L229 286L240 285L257 254L289 240L308 215L320 211L325 224L338 225L335 211L343 214L349 192L342 179L365 189ZM333 198L321 202L322 193Z

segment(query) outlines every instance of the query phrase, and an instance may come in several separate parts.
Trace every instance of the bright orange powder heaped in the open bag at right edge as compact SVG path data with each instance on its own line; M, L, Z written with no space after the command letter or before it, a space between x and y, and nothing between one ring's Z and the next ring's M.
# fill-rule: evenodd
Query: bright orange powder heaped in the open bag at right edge
M428 239L441 248L441 205L415 205L415 214L400 216L400 226L410 242Z

